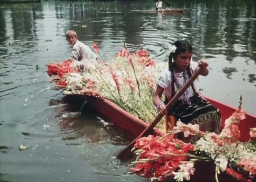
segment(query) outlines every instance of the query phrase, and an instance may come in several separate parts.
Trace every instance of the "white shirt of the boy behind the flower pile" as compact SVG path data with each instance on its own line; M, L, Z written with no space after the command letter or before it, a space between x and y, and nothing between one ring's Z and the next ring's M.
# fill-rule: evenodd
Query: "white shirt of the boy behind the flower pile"
M96 59L97 55L92 52L89 46L84 43L76 40L75 44L72 47L70 59L81 60L82 58L86 59Z

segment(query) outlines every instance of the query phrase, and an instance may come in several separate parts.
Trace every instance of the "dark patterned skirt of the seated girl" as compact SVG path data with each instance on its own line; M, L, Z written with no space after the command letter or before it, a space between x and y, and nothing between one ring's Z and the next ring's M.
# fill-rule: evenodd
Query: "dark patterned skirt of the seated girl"
M183 123L198 124L201 131L220 133L222 130L222 119L219 109L215 108L209 101L199 95L190 98L191 106L178 100L168 110L168 115L173 115ZM167 103L168 100L165 101Z

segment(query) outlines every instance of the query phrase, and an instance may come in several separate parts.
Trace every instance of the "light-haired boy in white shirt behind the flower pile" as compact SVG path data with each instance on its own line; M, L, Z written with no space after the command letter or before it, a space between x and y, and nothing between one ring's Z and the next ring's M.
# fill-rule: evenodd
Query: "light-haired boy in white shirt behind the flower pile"
M69 59L81 61L85 59L97 60L97 55L94 53L89 46L78 40L78 36L74 30L68 30L66 32L66 40L72 45L71 56Z

